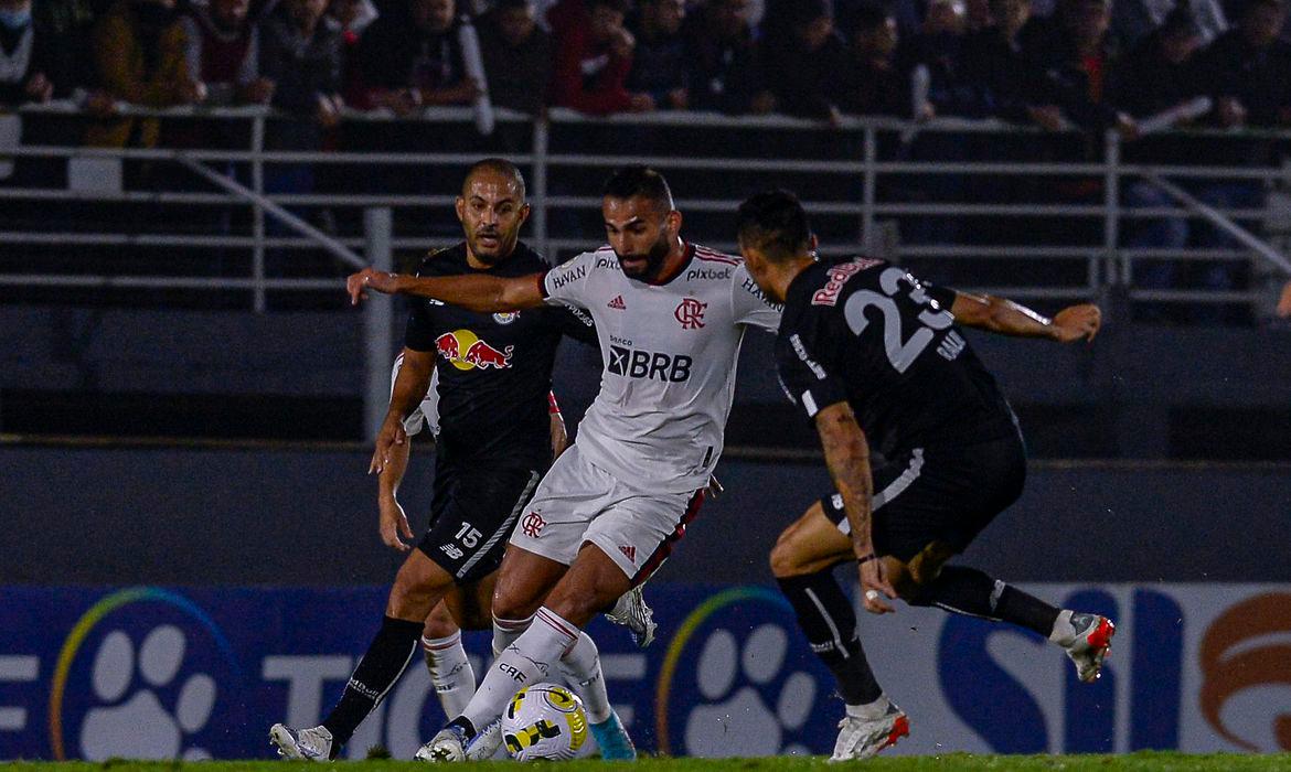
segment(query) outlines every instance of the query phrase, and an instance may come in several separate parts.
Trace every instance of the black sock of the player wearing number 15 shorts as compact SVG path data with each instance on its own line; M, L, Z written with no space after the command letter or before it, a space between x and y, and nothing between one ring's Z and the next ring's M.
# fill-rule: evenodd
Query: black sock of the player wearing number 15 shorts
M350 676L350 683L345 684L341 701L323 720L323 726L332 732L333 755L350 741L363 719L368 718L390 687L403 675L408 662L417 653L421 629L422 622L394 617L385 617L381 622L381 630L368 645L368 653L363 655L359 666L354 669L354 675Z

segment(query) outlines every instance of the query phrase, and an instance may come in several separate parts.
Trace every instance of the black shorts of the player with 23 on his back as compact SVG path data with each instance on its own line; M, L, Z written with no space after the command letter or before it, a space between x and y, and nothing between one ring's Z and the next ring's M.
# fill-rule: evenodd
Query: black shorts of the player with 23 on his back
M957 448L914 448L873 470L874 550L902 562L935 541L962 553L1022 493L1026 448L1010 436ZM851 525L843 497L820 500L843 533Z

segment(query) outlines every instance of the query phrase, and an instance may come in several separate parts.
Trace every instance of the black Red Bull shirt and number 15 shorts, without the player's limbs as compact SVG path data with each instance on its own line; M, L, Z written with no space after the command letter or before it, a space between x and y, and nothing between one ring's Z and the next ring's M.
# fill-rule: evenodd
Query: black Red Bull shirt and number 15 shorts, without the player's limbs
M550 266L524 244L476 271L466 244L435 252L418 276L524 276ZM564 309L467 311L414 298L404 345L435 352L439 436L430 529L420 549L471 581L498 567L515 520L551 463L549 395L562 336L594 343L591 319Z

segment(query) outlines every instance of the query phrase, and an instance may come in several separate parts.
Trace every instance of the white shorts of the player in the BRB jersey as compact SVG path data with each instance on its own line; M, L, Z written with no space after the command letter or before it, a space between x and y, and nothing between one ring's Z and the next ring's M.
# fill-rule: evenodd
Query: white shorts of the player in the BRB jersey
M574 443L538 483L511 543L569 565L582 545L591 542L635 586L662 565L702 502L702 489L646 493L629 488L586 461Z

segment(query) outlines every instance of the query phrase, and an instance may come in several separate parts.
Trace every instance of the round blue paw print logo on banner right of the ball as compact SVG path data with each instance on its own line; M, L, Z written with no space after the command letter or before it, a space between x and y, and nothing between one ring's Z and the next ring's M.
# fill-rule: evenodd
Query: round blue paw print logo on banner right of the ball
M660 750L692 757L818 754L833 724L828 670L798 633L788 602L767 587L735 587L691 612L660 676Z

